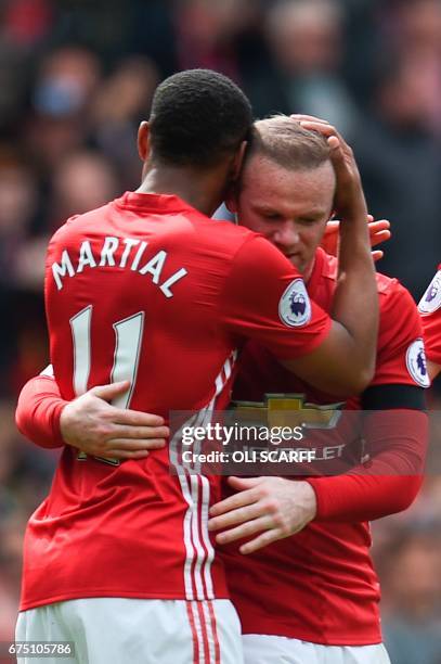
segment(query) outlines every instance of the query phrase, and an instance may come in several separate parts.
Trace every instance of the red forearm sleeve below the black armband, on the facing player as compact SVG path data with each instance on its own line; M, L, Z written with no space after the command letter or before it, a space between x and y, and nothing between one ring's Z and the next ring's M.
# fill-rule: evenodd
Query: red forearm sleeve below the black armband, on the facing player
M372 413L365 432L371 462L345 475L307 480L317 499L316 521L372 521L407 509L416 498L427 449L426 413Z

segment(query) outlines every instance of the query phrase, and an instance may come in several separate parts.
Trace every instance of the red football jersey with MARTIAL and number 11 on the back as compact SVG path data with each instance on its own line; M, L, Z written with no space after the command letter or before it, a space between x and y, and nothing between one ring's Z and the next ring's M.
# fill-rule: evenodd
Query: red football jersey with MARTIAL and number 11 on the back
M172 195L127 193L70 219L49 245L46 303L63 398L130 380L115 405L166 419L191 410L207 420L224 407L245 337L289 358L330 325L269 242ZM219 478L171 474L174 443L115 465L65 447L27 527L22 610L86 597L226 597L207 529Z

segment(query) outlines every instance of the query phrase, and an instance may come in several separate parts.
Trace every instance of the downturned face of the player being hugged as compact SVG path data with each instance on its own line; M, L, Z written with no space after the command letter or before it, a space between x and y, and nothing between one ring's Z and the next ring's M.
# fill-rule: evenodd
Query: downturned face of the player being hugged
M255 155L230 207L239 224L262 233L308 278L332 215L335 186L330 162L312 170L288 170Z

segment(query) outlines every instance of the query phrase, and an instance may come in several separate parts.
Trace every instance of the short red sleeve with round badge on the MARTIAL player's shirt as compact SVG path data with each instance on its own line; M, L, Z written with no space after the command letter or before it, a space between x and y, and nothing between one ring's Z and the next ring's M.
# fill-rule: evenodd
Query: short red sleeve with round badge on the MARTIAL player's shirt
M237 252L221 297L226 328L255 339L282 359L311 353L329 333L329 316L309 298L303 280L259 237Z

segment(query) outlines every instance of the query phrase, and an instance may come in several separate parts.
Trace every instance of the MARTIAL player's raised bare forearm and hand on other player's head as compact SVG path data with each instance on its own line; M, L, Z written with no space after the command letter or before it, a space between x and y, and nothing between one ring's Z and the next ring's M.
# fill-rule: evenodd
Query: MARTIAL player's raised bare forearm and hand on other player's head
M356 394L374 375L378 331L377 285L360 173L352 149L335 127L308 115L293 117L326 138L336 175L334 209L340 219L339 272L332 310L336 324L316 359L325 360L333 394L341 394L345 382Z

